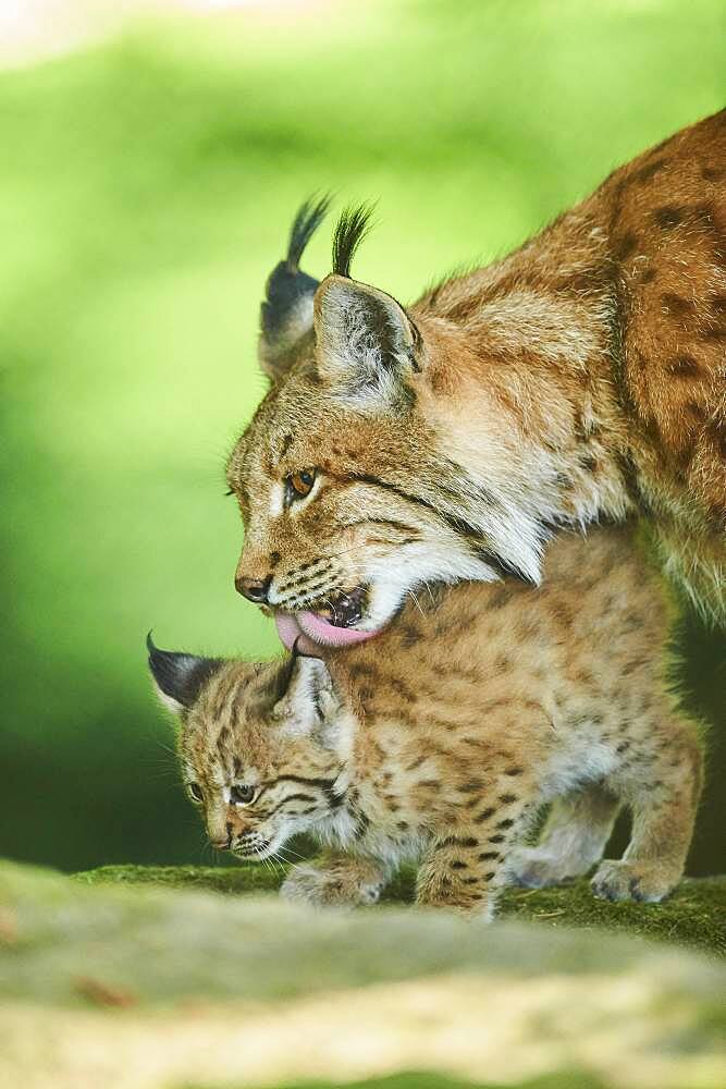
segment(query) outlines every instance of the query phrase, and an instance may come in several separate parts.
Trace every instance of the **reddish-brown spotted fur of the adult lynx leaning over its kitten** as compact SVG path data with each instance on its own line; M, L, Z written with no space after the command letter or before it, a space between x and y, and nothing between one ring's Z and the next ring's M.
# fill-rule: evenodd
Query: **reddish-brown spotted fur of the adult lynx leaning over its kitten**
M726 111L408 309L347 274L366 225L348 215L230 457L238 580L292 611L364 587L372 631L430 580L537 583L554 526L638 512L726 616L725 216Z

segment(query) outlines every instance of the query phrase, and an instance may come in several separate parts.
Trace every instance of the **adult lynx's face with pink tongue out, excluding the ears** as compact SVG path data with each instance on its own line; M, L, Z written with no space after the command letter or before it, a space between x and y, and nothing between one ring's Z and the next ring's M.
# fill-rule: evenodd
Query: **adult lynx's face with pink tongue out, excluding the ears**
M274 610L288 646L299 631L329 645L372 635L429 579L497 577L495 542L462 514L481 489L440 453L414 380L356 404L302 365L233 451L236 585Z

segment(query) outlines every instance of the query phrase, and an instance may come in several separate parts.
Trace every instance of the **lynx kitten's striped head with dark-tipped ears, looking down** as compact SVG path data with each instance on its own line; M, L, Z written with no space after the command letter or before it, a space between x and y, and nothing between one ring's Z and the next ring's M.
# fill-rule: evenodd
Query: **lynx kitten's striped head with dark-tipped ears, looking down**
M179 715L182 774L210 843L274 855L335 816L345 793L345 714L319 659L255 664L160 650L157 693Z

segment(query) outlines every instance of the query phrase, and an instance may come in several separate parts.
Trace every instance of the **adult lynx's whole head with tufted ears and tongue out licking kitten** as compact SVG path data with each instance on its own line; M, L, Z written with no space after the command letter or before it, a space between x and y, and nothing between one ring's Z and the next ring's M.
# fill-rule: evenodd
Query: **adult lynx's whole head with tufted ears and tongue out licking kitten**
M374 635L429 580L539 575L541 527L509 509L512 429L494 406L482 429L481 403L468 423L466 344L350 278L369 209L339 221L330 276L299 271L325 207L303 206L268 282L271 386L227 465L245 523L235 585L287 646L300 632L329 646ZM458 460L475 449L499 466L487 488Z

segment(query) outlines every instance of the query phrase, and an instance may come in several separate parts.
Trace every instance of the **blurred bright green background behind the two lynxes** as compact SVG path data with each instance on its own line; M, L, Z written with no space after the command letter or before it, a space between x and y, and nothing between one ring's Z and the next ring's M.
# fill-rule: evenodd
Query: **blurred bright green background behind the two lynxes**
M276 649L233 590L223 463L299 200L380 197L356 271L414 298L718 109L724 20L723 0L253 4L0 72L1 854L201 857L144 636ZM721 720L703 873L724 862L726 640L688 617L680 647Z

